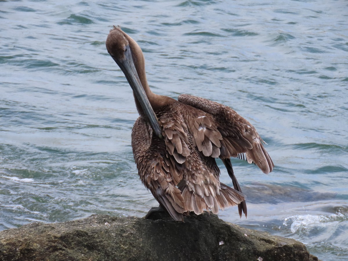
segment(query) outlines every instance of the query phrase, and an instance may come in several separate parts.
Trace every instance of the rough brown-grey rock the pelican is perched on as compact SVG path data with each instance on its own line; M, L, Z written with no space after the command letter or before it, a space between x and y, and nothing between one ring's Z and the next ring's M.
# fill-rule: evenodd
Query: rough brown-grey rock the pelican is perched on
M318 260L290 238L226 223L213 214L171 218L92 215L0 232L0 260Z

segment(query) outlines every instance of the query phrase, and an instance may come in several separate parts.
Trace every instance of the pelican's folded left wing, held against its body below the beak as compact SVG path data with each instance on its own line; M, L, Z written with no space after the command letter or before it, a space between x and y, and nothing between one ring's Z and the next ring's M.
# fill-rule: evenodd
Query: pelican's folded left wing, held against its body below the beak
M132 148L140 180L173 219L182 221L185 203L176 187L182 179L181 168L141 117L132 130Z

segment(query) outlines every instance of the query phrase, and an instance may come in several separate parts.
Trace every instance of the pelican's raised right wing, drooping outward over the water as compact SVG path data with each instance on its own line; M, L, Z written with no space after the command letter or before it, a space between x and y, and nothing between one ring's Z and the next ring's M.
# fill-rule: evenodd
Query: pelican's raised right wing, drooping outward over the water
M211 144L220 149L220 153L212 150L209 156L227 159L237 157L239 153L246 153L249 163L254 162L266 174L272 171L274 164L263 147L265 142L250 122L237 112L220 103L188 94L180 95L178 101L201 110L201 116L205 116L203 118L210 122L209 127L204 125L198 129L198 134L195 135L193 132L197 129L196 125L200 118L195 117L194 114L185 114L187 115L185 122L195 142L206 145L209 143L207 141L210 141ZM212 129L213 131L211 131ZM204 138L197 139L197 137ZM202 140L203 142L201 142ZM220 147L216 140L220 141ZM198 144L197 148L202 151Z

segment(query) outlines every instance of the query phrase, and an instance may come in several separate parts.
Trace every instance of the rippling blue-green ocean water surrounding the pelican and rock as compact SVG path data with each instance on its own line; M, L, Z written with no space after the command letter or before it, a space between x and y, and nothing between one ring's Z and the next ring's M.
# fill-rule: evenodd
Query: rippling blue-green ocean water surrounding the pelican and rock
M132 90L105 48L142 47L153 92L234 108L275 169L233 159L219 216L348 260L347 1L0 1L0 230L157 206L137 176ZM221 161L221 181L232 185Z

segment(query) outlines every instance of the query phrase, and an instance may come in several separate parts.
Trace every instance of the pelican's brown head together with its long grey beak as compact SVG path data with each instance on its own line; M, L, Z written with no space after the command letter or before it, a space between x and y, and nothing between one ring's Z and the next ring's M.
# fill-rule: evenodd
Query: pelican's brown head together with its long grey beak
M133 89L134 97L139 101L151 128L162 139L162 130L158 124L157 116L152 109L136 70L136 68L144 66L141 48L119 26L114 26L110 30L105 44L108 53L125 74L130 87Z

